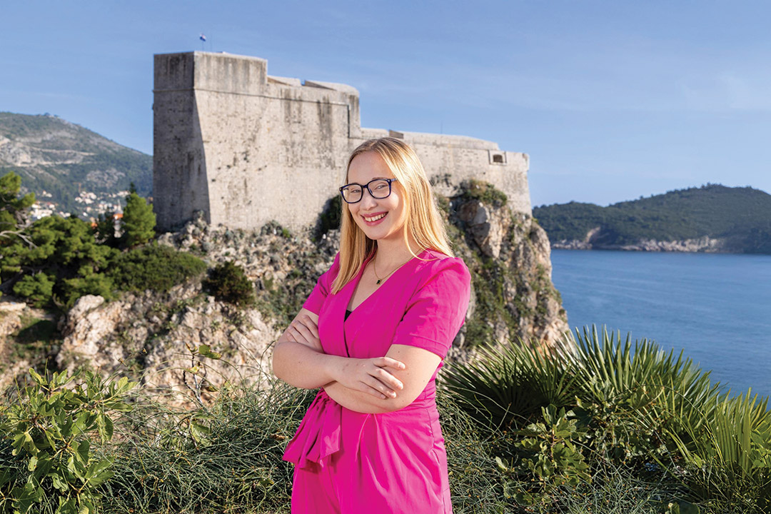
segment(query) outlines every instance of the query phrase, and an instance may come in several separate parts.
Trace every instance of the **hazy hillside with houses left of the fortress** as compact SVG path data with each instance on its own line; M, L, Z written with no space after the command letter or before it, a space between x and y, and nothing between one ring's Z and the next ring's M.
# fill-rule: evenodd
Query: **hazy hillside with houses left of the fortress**
M25 190L45 190L46 200L72 212L80 191L115 193L133 182L149 196L153 187L152 156L50 115L0 113L0 176L8 171L22 176Z

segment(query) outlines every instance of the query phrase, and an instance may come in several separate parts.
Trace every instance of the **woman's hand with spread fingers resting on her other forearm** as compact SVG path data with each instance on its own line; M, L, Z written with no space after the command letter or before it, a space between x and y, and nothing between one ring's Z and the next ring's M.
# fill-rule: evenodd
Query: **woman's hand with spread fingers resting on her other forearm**
M345 358L341 361L335 378L340 385L375 398L396 398L396 391L404 388L404 385L384 368L401 370L405 365L390 357Z

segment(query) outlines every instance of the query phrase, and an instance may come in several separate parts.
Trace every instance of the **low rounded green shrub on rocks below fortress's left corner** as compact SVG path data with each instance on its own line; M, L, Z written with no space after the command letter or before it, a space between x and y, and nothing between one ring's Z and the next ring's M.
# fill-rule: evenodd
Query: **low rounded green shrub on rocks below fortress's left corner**
M194 255L150 244L120 254L108 273L121 291L164 292L205 269L206 263Z

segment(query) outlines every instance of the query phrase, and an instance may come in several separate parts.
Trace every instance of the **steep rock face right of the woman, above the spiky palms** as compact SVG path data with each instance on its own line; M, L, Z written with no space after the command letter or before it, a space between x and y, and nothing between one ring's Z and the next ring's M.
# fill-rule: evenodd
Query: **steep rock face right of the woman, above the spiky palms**
M569 331L551 283L550 245L533 218L505 201L466 193L453 197L449 221L460 257L473 277L473 304L461 348L490 344L564 344Z

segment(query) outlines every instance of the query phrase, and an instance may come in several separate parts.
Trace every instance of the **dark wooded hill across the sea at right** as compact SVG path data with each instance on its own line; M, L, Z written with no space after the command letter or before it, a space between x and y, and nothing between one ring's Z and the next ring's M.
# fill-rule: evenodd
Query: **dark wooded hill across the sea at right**
M533 216L555 248L771 254L771 195L707 184L599 207L563 203Z

